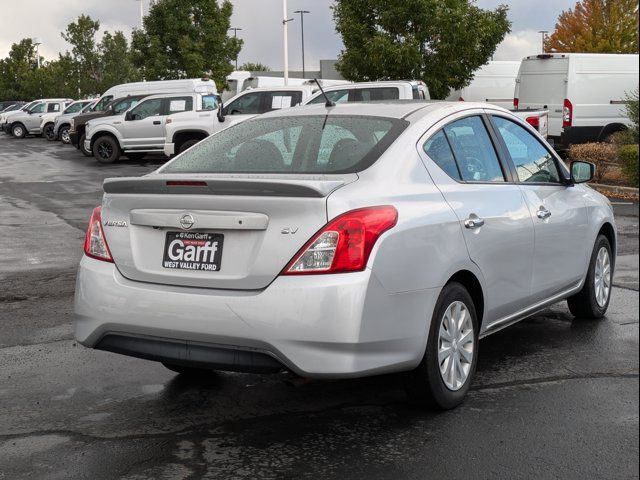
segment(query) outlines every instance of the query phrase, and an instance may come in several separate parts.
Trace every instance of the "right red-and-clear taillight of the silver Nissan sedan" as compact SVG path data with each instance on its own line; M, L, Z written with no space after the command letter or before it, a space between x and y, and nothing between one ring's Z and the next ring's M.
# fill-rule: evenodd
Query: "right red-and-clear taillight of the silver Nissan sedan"
M360 272L376 241L398 221L392 206L352 210L331 220L285 267L283 275Z

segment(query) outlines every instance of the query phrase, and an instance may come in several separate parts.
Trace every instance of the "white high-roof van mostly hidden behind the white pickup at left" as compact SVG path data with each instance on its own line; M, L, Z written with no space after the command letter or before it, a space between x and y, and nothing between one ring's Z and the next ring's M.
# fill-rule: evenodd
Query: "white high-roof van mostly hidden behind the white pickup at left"
M104 92L92 111L102 112L109 102L116 98L133 95L153 95L157 93L202 93L217 94L216 82L208 78L187 78L183 80L159 80L154 82L133 82L116 85Z

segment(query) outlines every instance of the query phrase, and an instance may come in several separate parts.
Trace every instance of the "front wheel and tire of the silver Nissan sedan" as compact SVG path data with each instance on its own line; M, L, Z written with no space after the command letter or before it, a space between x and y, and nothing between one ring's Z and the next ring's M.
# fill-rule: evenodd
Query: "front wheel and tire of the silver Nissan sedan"
M611 301L614 265L609 240L604 235L598 235L584 286L567 299L569 311L574 317L591 320L604 317Z

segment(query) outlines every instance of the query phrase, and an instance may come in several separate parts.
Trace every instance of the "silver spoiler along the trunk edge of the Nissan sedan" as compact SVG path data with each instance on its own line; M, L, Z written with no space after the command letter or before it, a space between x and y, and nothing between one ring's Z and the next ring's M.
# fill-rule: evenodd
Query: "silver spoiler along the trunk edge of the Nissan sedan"
M349 175L350 176L350 175ZM249 195L264 197L328 196L353 179L316 177L301 179L268 178L161 178L123 177L107 178L103 189L110 194L177 194L177 195Z

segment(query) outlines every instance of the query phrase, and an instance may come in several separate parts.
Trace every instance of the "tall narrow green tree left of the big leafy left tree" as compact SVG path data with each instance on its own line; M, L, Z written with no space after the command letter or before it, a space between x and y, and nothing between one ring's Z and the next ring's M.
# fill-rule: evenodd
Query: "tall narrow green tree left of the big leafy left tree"
M74 63L73 71L69 73L77 82L79 95L100 92L100 52L96 41L99 29L99 21L88 15L80 15L61 34L71 44Z

